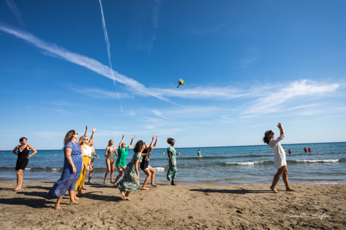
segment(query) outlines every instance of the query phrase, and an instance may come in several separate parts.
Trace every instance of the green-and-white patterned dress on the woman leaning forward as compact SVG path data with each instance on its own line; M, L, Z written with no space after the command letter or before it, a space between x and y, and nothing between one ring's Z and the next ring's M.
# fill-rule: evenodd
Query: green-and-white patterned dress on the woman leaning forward
M138 164L142 162L142 155L140 153L134 153L131 162L126 166L125 175L118 183L120 191L135 191L139 187L139 180L137 182L135 181L137 173L134 164L137 160L139 160Z

